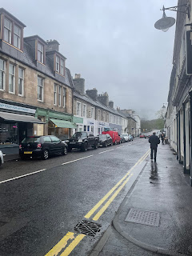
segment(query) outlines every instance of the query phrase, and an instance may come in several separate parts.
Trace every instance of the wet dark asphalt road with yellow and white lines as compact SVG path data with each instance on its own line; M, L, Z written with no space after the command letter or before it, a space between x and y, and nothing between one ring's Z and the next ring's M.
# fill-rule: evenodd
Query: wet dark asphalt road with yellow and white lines
M46 161L6 162L0 170L0 255L89 255L138 177L134 168L147 150L148 140L136 138ZM100 232L74 233L82 220L101 225Z

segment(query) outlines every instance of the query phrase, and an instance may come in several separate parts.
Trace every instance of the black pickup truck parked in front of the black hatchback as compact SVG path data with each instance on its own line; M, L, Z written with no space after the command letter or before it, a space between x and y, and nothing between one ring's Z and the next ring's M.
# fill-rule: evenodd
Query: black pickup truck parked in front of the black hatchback
M89 131L78 131L68 141L68 151L70 152L73 148L81 149L86 151L89 146L95 150L98 148L99 138L94 137L94 134Z

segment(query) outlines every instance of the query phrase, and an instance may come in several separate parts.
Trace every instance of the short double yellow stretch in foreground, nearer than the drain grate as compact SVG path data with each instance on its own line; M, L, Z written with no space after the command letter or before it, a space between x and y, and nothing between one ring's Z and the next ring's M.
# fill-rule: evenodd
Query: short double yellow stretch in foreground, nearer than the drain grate
M68 232L45 256L68 256L71 251L74 250L74 247L76 247L85 236L85 234L78 234L78 236L74 238L74 233ZM72 241L70 242L69 246L67 246L67 242L69 240ZM61 251L65 248L66 250L64 250L61 254Z

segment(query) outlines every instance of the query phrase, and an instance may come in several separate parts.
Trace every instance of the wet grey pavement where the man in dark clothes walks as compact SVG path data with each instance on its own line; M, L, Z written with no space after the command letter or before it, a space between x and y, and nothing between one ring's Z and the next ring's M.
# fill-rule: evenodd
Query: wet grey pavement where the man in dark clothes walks
M192 255L189 179L170 146L159 145L90 256Z

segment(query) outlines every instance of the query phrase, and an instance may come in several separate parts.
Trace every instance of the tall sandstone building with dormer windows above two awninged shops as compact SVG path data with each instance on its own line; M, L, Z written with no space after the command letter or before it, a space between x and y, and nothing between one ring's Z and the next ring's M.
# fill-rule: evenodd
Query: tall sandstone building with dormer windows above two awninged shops
M18 153L27 135L68 138L75 128L73 81L56 40L24 38L26 27L0 9L0 147Z

